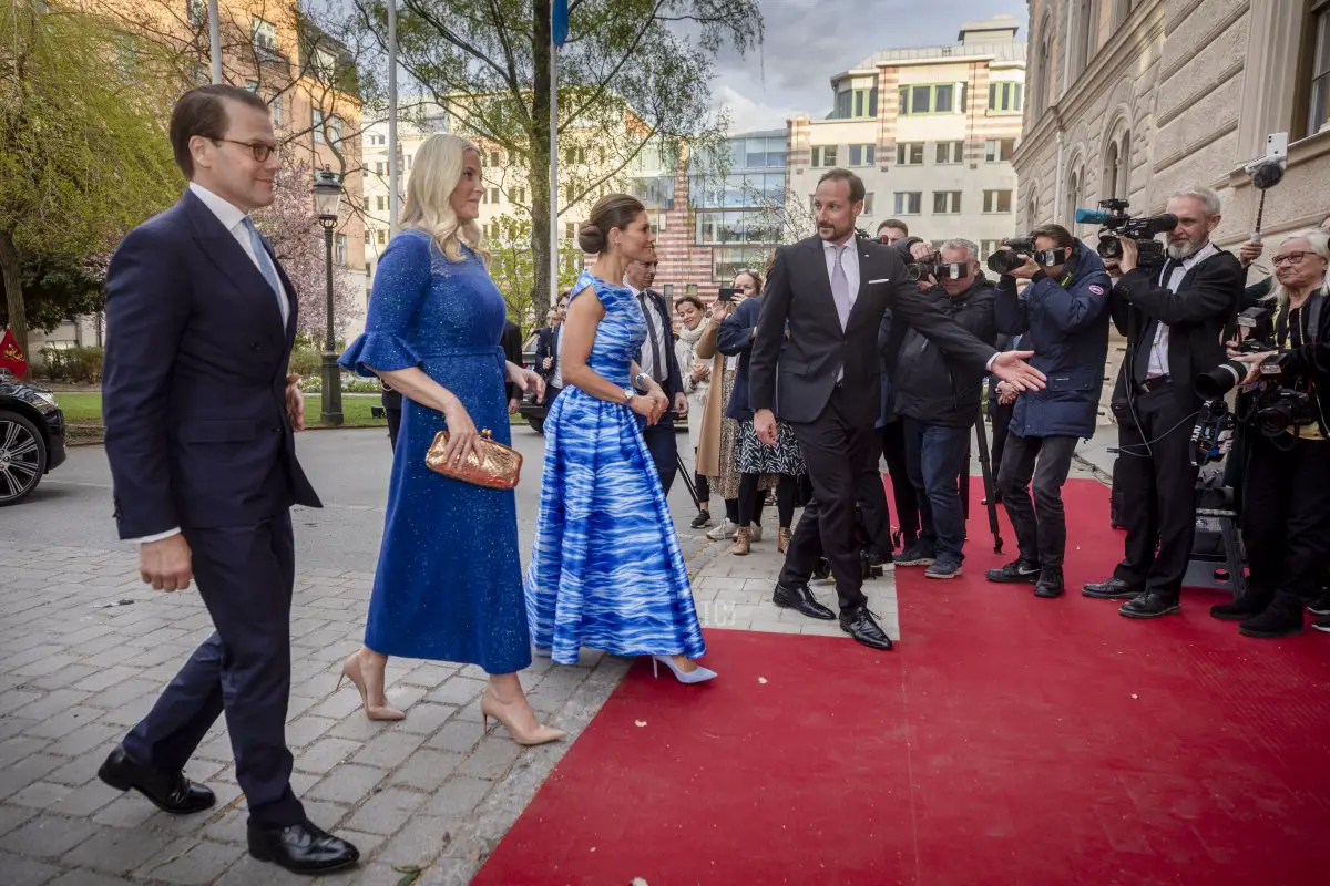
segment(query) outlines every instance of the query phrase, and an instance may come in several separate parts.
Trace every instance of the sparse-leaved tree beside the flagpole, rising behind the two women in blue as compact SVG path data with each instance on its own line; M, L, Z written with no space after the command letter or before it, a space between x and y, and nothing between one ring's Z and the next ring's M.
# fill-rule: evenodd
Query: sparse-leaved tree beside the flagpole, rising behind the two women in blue
M355 3L386 45L383 1ZM563 206L620 182L648 145L674 158L685 143L692 153L721 146L726 118L712 108L714 58L761 43L758 0L572 0L568 7L571 36L559 53ZM503 166L529 177L531 300L543 315L548 238L557 223L548 209L549 0L403 0L398 45L400 64L448 110L455 132L497 145Z

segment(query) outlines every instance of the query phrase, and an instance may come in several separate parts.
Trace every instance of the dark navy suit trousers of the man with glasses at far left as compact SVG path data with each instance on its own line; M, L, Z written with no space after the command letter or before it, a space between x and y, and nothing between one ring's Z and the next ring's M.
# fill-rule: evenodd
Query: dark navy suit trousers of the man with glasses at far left
M302 822L286 747L295 583L291 515L283 511L257 526L186 529L185 541L217 631L125 737L125 752L162 772L178 772L225 712L250 820L263 828Z

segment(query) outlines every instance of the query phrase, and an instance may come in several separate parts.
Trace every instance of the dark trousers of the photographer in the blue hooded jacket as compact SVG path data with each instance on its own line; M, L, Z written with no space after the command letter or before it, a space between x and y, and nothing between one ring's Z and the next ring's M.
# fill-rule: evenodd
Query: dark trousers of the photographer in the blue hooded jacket
M1020 559L1061 567L1067 555L1067 514L1063 484L1072 468L1076 437L1012 434L998 469L998 491L1016 530ZM1033 481L1033 484L1031 484ZM1031 498L1033 485L1033 499Z

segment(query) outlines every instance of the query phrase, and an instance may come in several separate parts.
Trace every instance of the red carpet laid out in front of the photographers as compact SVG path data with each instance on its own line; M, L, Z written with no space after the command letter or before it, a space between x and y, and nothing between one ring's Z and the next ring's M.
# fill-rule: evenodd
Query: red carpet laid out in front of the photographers
M898 573L895 652L709 631L712 684L636 667L473 882L1327 882L1330 636L988 584L979 498L963 578ZM1121 537L1065 498L1079 588Z

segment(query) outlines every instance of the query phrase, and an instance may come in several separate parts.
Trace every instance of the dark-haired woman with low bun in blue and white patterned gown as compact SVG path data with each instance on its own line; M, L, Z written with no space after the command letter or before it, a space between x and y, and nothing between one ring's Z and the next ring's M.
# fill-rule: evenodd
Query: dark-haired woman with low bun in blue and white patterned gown
M716 673L706 654L684 555L642 422L669 400L633 355L646 319L622 284L634 259L654 255L641 202L610 194L592 209L579 243L596 266L573 286L564 321L564 392L545 418L545 468L527 616L537 648L559 664L588 647L650 655L681 683ZM636 389L634 389L636 388Z

